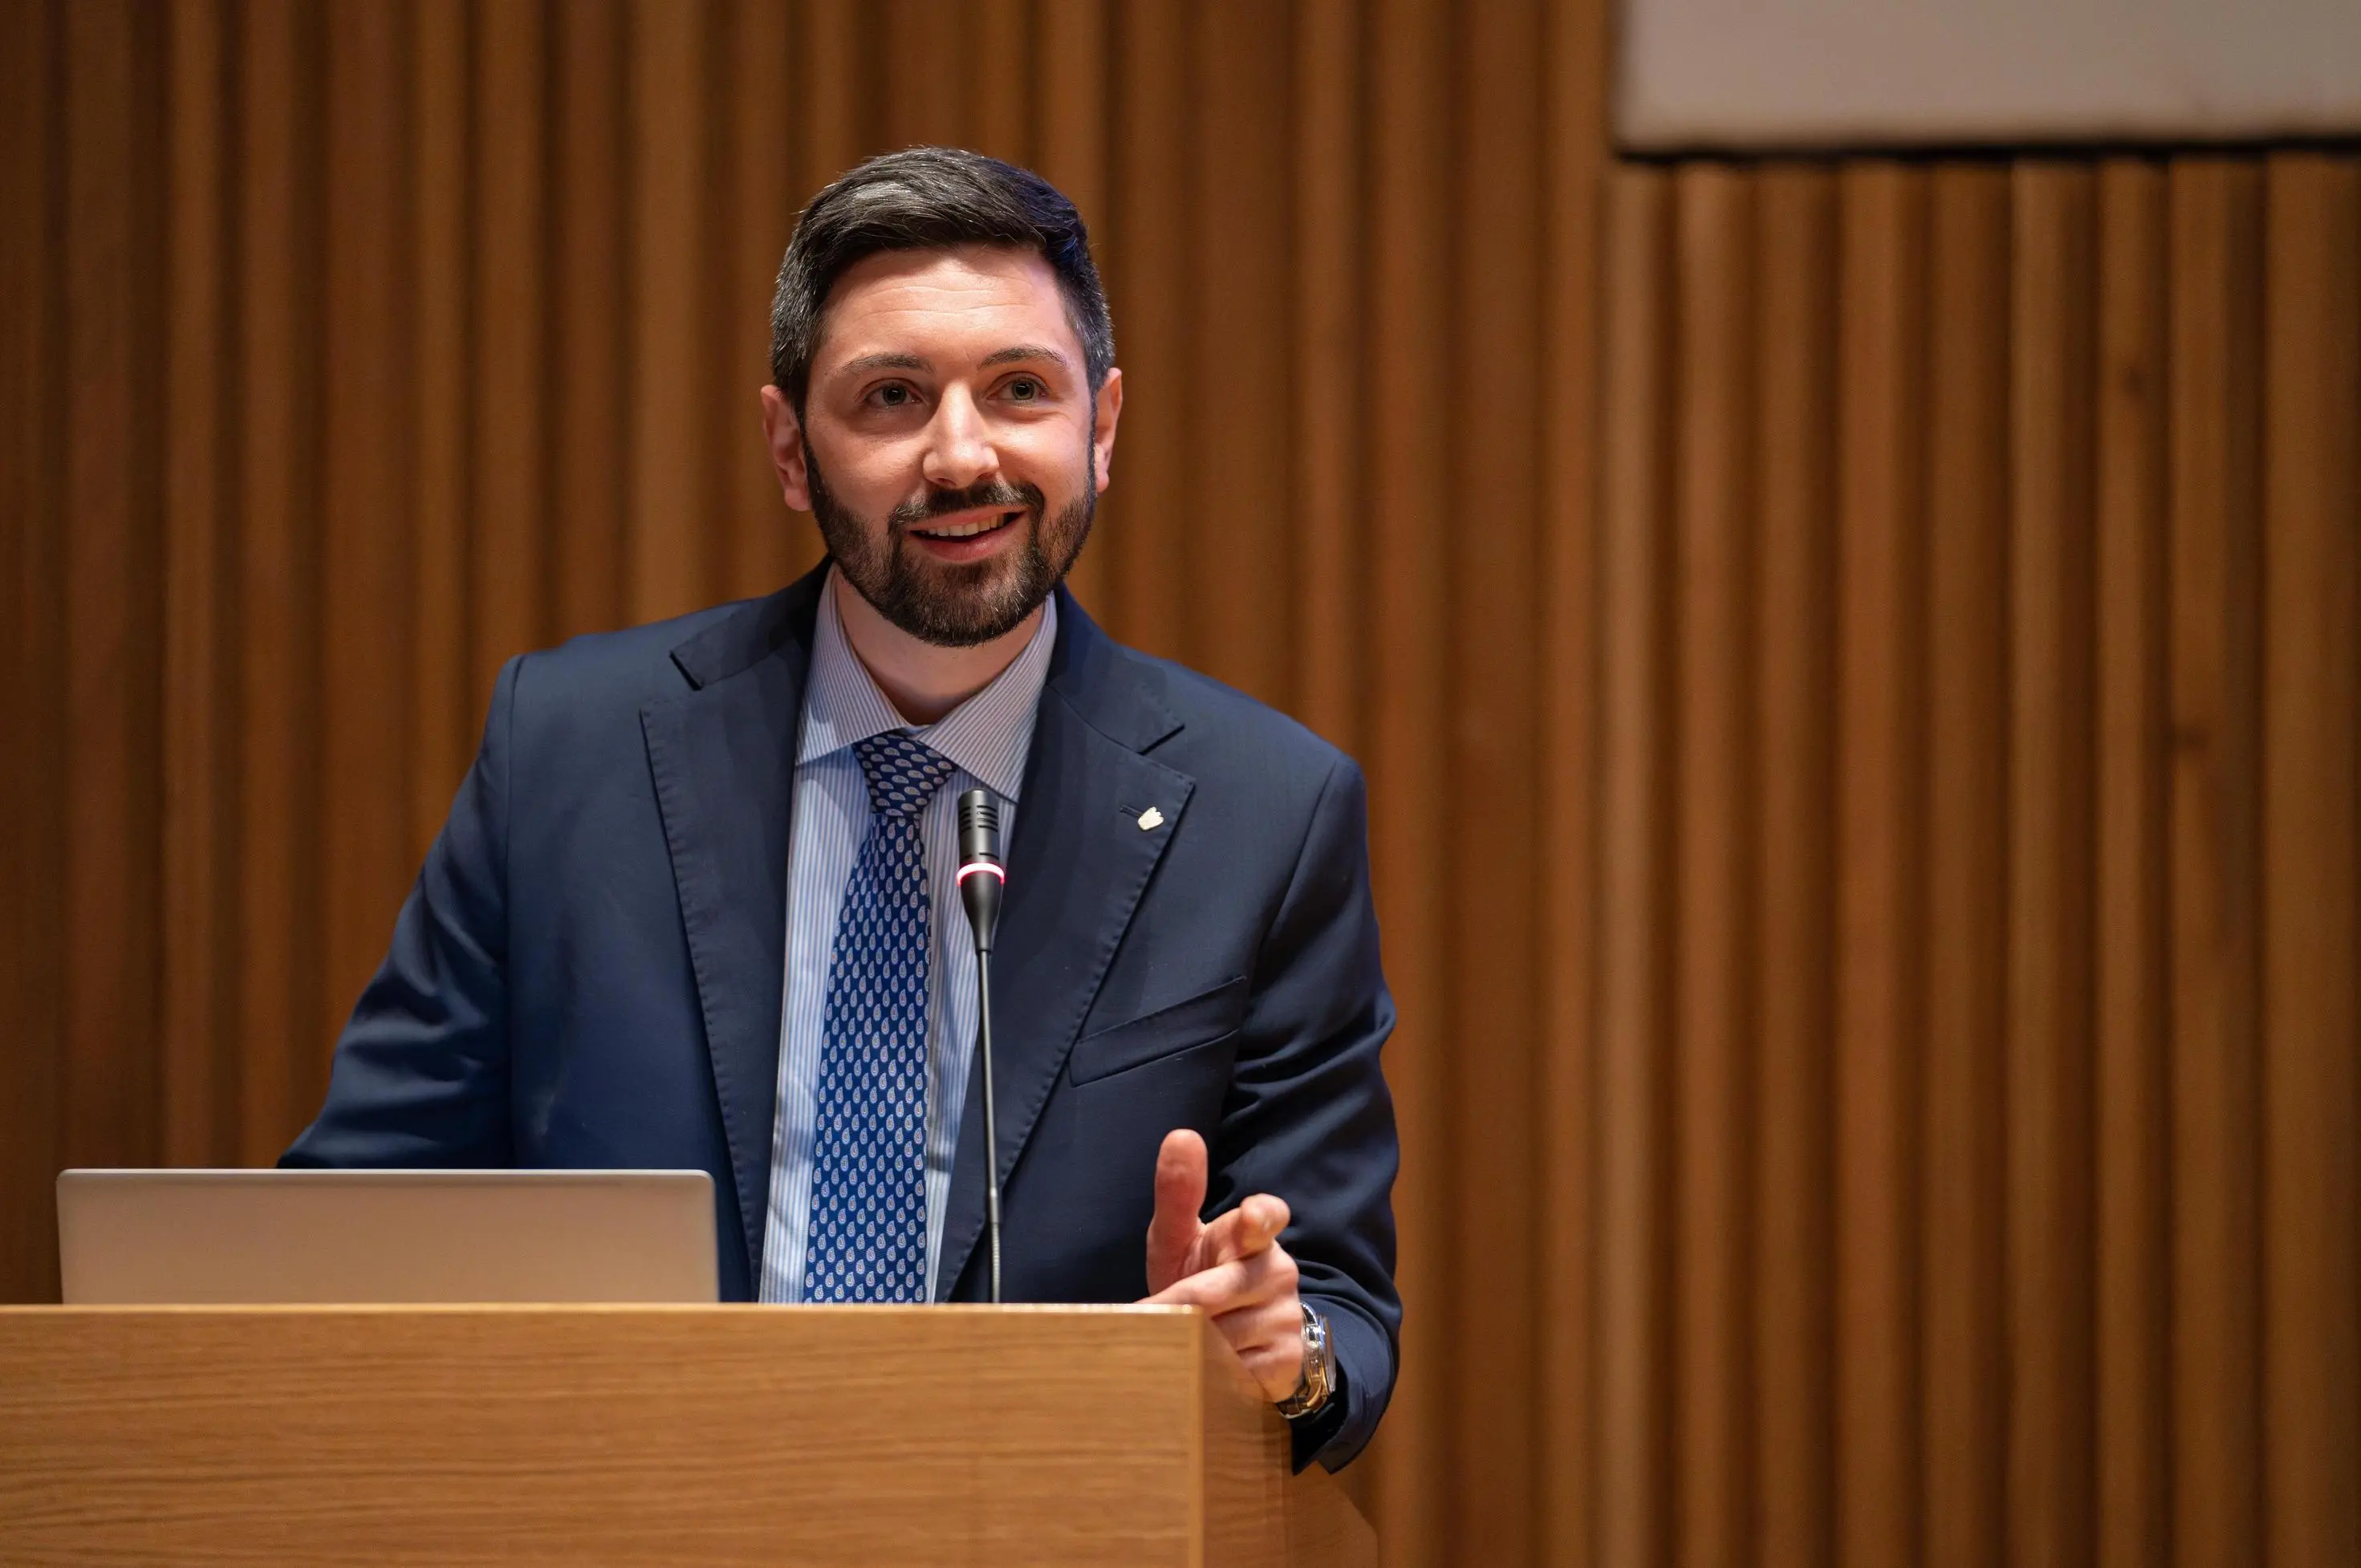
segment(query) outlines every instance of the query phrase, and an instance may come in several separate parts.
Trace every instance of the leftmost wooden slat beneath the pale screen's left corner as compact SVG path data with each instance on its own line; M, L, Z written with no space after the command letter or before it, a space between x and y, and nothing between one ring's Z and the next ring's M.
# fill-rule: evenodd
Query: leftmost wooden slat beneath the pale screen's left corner
M1667 364L1672 189L1657 170L1608 187L1598 456L1598 1518L1601 1563L1665 1561L1672 1440L1665 1410L1662 1185L1667 1044L1662 893L1665 531L1672 491Z

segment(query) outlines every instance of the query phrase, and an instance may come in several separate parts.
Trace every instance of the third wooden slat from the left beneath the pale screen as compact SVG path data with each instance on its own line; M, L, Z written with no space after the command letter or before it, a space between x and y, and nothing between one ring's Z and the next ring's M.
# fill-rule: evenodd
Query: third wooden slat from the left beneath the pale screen
M1754 1431L1764 1568L1834 1554L1830 1018L1837 187L1761 179Z

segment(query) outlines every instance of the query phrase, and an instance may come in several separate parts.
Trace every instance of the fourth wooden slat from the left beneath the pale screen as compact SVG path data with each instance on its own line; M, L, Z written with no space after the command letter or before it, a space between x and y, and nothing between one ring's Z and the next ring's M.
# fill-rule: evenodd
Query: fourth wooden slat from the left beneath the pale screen
M1837 1561L1917 1561L1922 177L1844 172L1837 477Z

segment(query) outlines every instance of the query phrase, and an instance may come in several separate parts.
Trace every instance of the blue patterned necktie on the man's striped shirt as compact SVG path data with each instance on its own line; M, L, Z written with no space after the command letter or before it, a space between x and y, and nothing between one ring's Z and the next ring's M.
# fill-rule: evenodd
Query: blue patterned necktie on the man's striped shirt
M918 812L951 758L907 730L852 749L869 834L829 952L805 1301L926 1301L926 971Z

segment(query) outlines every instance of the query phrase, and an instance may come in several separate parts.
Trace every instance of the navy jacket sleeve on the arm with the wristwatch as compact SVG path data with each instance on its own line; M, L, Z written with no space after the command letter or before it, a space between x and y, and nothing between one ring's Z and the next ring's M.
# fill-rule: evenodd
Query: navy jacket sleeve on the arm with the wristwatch
M1379 1048L1393 997L1369 900L1367 791L1336 758L1294 876L1256 956L1206 1211L1254 1193L1287 1200L1280 1242L1329 1322L1343 1398L1296 1422L1296 1469L1343 1466L1393 1396L1402 1299L1393 1287L1400 1145Z

